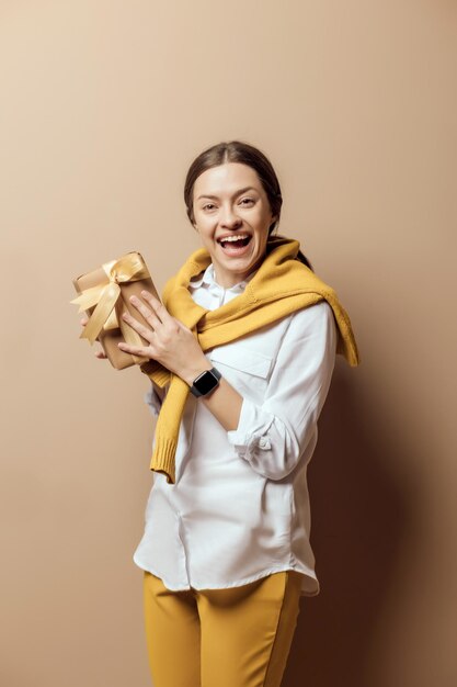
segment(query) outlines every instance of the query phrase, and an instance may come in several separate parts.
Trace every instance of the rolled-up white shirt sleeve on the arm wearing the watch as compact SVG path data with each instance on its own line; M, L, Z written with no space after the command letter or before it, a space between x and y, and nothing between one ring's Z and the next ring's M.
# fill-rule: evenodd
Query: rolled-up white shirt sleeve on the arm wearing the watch
M317 441L317 421L333 373L338 330L327 301L294 314L262 405L244 397L228 440L255 472L282 480Z

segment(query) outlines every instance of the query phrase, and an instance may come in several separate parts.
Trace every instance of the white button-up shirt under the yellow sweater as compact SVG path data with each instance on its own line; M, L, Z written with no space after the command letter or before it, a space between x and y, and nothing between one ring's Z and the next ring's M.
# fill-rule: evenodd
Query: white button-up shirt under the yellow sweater
M190 291L215 309L241 294L253 274L224 289L209 264ZM153 475L134 554L139 567L175 590L235 587L295 570L302 573L301 594L319 593L307 465L335 349L336 324L322 301L206 352L243 397L239 424L227 431L188 394L175 484ZM152 384L145 401L157 415L161 398Z

